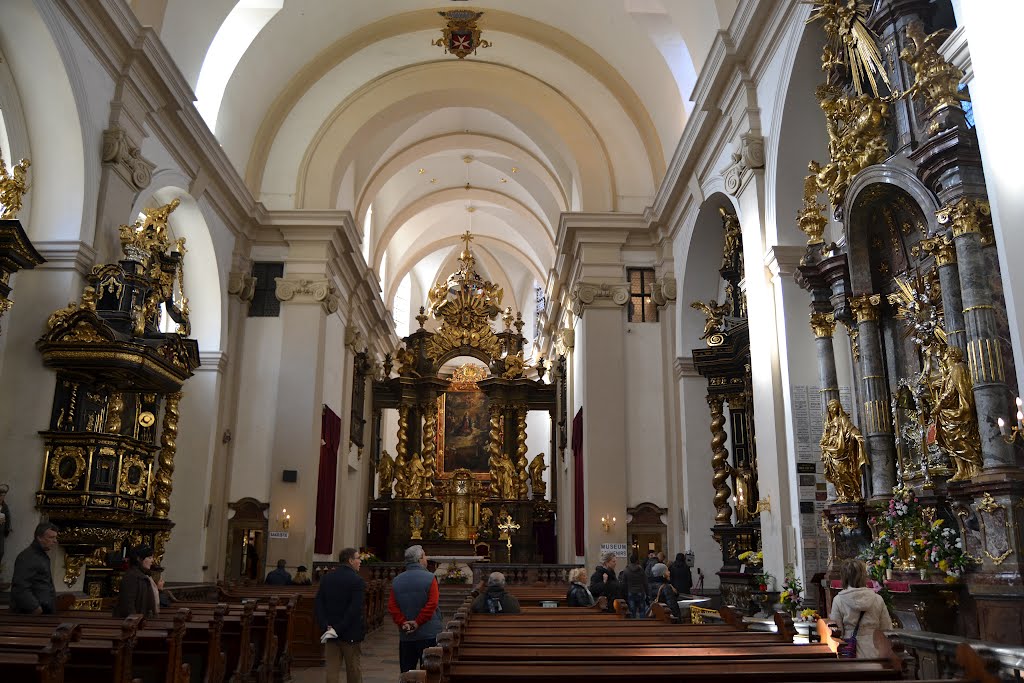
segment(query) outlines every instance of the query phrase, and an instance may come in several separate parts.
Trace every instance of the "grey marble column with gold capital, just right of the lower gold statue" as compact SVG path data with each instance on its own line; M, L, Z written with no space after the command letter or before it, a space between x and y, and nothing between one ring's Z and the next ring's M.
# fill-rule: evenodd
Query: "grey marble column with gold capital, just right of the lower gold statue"
M857 321L860 342L860 376L863 423L860 428L867 440L871 462L869 498L887 498L896 483L896 441L893 439L889 391L886 386L879 330L879 294L862 294L851 299L850 307Z

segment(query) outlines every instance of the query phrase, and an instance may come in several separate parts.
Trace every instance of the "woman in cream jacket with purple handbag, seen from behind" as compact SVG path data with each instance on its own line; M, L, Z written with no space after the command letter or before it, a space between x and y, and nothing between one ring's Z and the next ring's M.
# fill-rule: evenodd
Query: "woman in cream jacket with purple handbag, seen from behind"
M843 629L846 645L840 656L876 657L874 632L893 628L882 596L867 588L867 567L862 560L845 560L840 567L843 590L833 598L828 618Z

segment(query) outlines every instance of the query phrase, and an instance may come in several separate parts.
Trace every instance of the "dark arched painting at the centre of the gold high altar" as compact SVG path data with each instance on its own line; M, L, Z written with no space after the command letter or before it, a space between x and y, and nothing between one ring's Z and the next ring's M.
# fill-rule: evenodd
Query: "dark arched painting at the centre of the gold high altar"
M460 468L474 478L488 479L487 442L490 439L487 394L477 388L449 390L437 404L438 473L445 476Z

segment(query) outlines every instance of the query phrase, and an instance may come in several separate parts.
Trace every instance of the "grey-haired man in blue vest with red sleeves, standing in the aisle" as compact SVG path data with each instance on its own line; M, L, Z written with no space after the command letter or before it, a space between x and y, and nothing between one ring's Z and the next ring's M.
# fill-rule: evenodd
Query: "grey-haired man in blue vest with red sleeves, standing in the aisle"
M406 570L391 582L387 609L398 627L398 667L401 673L419 666L423 650L437 644L441 632L440 592L427 570L423 546L406 549Z

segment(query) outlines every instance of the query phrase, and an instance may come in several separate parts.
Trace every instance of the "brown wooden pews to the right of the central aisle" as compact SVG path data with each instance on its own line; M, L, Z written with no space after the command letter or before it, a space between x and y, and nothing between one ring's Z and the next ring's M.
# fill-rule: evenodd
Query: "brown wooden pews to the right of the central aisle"
M520 614L474 614L469 601L424 653L424 670L403 683L564 683L567 681L892 681L902 678L887 653L874 659L838 659L835 642L797 645L792 629L754 632L731 610L722 624L679 625L626 620L623 611L541 608ZM542 598L543 599L543 598ZM616 601L621 602L621 601ZM617 607L618 605L616 605ZM880 634L881 635L881 634ZM885 640L884 636L882 636ZM970 648L965 657L972 656ZM968 670L966 668L966 670ZM990 683L983 668L962 681Z

